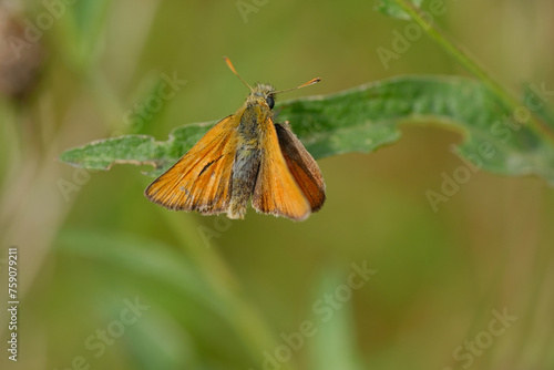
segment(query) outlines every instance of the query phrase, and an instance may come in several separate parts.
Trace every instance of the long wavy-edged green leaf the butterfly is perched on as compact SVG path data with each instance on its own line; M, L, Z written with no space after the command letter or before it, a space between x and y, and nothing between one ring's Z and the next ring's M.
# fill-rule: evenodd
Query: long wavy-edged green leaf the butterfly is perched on
M315 158L372 152L399 140L400 123L437 123L461 132L456 153L475 167L505 175L535 174L554 185L554 147L483 84L453 76L404 76L337 94L277 105L276 122L289 121ZM529 111L527 111L529 112ZM175 163L211 123L175 129L167 142L129 135L90 143L60 158L79 167L107 169L113 163L153 164L158 174Z

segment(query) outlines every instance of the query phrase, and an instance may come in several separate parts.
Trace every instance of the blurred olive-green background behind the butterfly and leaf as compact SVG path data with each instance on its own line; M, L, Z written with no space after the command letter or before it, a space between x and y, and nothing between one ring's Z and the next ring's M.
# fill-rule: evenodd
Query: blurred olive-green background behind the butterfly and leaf
M10 246L20 282L19 358L1 310L0 368L554 368L554 192L476 172L433 212L425 192L466 166L458 133L407 125L392 146L319 161L328 201L304 223L168 212L142 195L146 166L57 161L235 112L247 90L223 55L278 90L322 79L283 100L466 74L427 37L386 68L376 50L408 23L376 1L71 2L2 3L43 22L44 64L34 90L0 103L2 301ZM552 1L444 7L438 24L510 89L554 88ZM130 124L164 76L186 83Z

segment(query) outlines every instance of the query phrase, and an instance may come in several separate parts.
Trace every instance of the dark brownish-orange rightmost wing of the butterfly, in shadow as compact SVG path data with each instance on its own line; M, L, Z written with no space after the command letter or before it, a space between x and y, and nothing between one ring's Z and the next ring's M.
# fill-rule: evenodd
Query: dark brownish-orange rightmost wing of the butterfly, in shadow
M319 166L287 124L277 123L275 129L288 169L308 198L311 212L319 210L326 198L324 176Z

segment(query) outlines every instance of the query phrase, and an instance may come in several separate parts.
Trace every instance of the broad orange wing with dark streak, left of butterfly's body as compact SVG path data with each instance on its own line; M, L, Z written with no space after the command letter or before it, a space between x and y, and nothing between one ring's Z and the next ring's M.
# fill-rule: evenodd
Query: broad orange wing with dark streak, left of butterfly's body
M227 210L237 146L234 115L213 126L177 163L144 192L154 203L175 210L218 214Z

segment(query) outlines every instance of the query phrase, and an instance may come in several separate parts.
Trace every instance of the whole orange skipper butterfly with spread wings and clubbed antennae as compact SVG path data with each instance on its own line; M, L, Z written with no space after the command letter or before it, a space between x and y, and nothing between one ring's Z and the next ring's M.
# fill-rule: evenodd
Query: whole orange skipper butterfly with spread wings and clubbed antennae
M229 218L244 218L252 197L260 213L306 219L324 205L325 183L316 161L288 124L273 121L275 94L284 91L259 83L250 88L225 61L250 89L245 104L214 125L144 194L170 209L227 213Z

